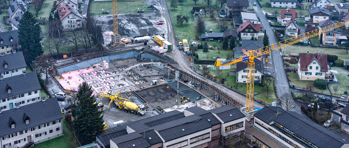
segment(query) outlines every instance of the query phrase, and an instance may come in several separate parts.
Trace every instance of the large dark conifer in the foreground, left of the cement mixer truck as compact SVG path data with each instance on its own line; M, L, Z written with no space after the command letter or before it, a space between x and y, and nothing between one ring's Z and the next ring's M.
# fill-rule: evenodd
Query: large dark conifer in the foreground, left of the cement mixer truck
M72 108L73 123L83 145L94 140L94 134L103 130L103 115L98 111L96 97L86 82L79 85L76 101Z

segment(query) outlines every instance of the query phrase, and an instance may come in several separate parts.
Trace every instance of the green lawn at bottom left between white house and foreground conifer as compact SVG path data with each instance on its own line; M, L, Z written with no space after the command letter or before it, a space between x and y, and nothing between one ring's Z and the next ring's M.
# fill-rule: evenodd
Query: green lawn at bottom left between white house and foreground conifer
M75 148L70 146L71 139L74 139L74 135L69 131L69 127L65 120L62 120L63 123L63 134L60 137L47 140L45 142L39 143L33 148Z

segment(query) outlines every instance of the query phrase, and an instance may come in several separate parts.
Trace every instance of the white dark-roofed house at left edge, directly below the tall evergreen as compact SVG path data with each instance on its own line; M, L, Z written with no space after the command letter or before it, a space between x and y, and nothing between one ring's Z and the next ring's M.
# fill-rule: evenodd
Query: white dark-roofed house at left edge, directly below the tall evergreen
M0 56L0 62L2 63L2 66L0 66L0 76L3 79L22 75L27 67L22 51Z

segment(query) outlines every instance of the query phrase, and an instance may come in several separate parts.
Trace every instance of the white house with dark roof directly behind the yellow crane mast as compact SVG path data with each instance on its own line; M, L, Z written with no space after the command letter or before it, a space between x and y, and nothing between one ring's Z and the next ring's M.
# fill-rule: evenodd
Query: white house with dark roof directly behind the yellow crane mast
M247 63L238 62L236 64L236 82L237 83L246 83L247 82ZM263 76L263 63L257 58L254 59L254 82L260 83Z

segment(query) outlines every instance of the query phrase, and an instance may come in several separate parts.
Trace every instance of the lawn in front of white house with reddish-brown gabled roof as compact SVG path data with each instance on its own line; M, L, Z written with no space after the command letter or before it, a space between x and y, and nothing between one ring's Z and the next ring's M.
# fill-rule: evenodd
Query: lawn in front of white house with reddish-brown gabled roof
M294 85L297 88L306 88L307 86L313 86L313 81L298 81L298 77L296 73L292 73L292 72L288 72L287 73L288 79L290 81L292 81L292 85ZM292 74L293 74L293 78L292 78ZM291 84L291 82L289 82L289 84ZM318 88L313 88L314 92L320 92L322 94L329 94L328 89L325 90L321 90Z

